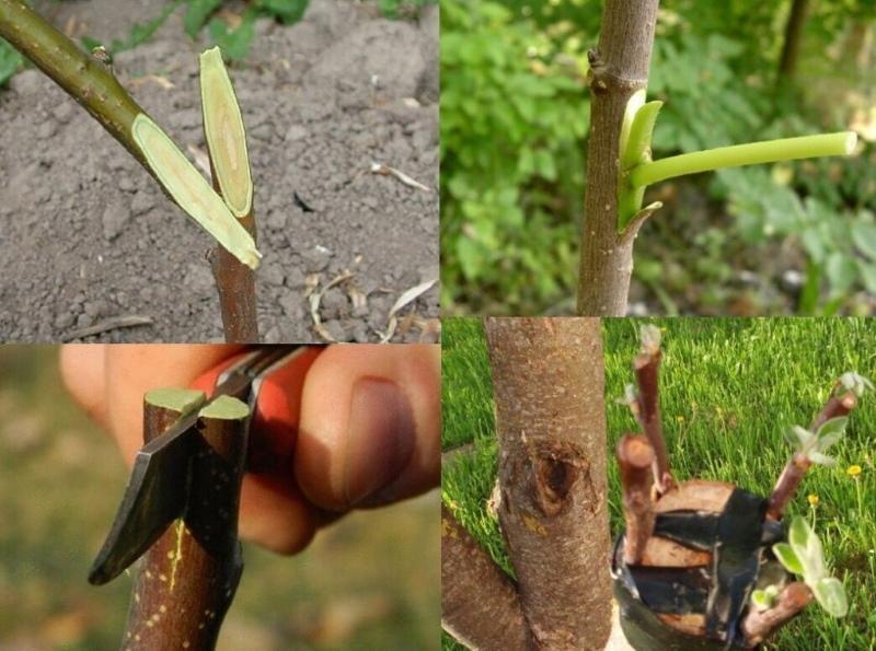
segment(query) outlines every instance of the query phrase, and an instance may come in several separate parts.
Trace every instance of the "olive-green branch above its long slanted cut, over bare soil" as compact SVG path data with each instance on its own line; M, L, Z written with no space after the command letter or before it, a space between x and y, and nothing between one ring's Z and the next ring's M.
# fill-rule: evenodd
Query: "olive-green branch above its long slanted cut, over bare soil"
M143 154L131 135L134 119L146 112L118 83L105 63L80 50L72 40L19 0L0 0L0 36L79 102L146 165Z

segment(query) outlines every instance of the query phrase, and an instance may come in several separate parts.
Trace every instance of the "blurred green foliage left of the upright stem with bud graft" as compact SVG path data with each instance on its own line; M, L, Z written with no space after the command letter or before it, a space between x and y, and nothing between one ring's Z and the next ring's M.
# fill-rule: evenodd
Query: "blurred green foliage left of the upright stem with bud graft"
M473 284L491 288L494 312L542 309L575 269L589 113L580 42L494 2L441 9L442 299L483 307Z

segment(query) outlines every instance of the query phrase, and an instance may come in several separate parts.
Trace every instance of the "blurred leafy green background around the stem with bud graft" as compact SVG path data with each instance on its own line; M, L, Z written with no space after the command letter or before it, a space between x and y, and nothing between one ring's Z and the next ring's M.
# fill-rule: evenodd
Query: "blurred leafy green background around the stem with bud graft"
M574 310L596 0L441 0L447 314ZM803 20L792 20L803 15ZM648 97L655 158L852 129L850 159L658 184L633 314L872 314L872 0L662 0Z

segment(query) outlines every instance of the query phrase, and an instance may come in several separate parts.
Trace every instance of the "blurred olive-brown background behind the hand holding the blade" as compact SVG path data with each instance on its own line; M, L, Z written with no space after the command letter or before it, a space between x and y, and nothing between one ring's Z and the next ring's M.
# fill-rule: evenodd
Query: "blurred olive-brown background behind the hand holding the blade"
M76 407L57 349L0 346L0 651L116 649L131 577L88 569L127 483ZM437 649L438 492L355 513L285 558L244 543L219 649Z

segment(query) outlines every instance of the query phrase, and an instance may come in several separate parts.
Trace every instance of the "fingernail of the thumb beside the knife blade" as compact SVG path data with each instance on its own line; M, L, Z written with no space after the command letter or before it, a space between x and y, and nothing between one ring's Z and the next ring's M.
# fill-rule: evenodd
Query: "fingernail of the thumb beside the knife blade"
M353 507L387 489L414 452L414 414L393 382L359 380L353 387L345 492Z

